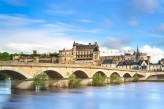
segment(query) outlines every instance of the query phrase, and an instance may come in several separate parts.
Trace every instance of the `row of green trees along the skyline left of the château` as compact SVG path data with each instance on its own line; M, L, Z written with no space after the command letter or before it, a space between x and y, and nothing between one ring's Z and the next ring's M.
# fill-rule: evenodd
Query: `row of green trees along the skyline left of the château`
M17 54L9 54L8 52L0 52L0 61L10 61L13 59L14 56L19 56L21 58L53 58L53 57L59 57L59 53L38 53L36 50L33 50L32 54L25 54L23 52Z

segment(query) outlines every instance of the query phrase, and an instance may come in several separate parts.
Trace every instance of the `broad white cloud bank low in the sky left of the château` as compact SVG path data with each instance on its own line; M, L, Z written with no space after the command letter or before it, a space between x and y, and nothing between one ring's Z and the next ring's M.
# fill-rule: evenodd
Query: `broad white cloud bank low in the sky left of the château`
M40 53L58 52L63 48L71 49L74 41L66 34L49 34L46 30L9 30L4 31L0 36L3 36L0 40L1 51L6 50L12 53L31 53L32 50ZM82 43L82 41L78 42Z

